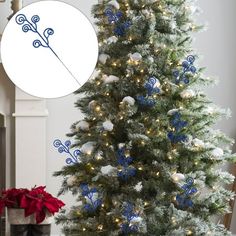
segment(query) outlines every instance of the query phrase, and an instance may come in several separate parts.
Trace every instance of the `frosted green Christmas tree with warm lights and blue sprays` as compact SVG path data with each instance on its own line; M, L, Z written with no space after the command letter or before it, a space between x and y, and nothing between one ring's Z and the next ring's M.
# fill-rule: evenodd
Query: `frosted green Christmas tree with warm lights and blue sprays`
M214 83L191 48L193 0L113 0L94 6L97 75L77 93L78 163L56 176L78 201L65 235L230 235L212 216L234 197L219 170L233 140L211 128L228 112L202 91Z

